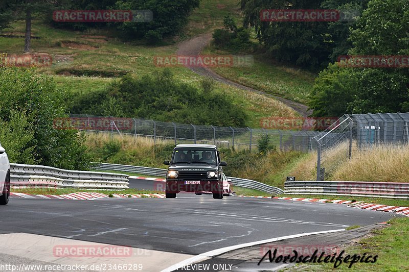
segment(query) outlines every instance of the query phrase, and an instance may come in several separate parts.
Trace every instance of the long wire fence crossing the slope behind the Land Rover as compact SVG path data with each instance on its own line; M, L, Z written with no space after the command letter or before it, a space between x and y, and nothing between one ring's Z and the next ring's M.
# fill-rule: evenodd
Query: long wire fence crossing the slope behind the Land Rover
M177 143L205 143L234 149L257 148L258 140L265 134L280 150L309 152L317 149L314 137L320 132L288 131L217 126L198 126L138 118L102 117L86 114L70 115L71 125L84 131L111 132L134 137L166 139ZM58 125L55 124L58 127Z

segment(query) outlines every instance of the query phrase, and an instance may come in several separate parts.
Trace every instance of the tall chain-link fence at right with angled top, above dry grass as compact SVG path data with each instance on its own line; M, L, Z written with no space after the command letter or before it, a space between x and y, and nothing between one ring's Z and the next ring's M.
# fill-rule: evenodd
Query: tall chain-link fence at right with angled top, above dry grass
M354 151L409 143L409 113L345 114L315 137L317 180L326 180Z

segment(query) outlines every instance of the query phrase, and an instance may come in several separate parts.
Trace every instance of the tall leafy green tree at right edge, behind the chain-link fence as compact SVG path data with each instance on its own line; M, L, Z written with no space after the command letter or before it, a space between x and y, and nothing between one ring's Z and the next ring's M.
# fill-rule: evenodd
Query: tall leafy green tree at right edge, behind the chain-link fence
M351 30L350 55L409 55L407 0L371 0ZM330 65L316 79L315 116L409 111L409 69Z

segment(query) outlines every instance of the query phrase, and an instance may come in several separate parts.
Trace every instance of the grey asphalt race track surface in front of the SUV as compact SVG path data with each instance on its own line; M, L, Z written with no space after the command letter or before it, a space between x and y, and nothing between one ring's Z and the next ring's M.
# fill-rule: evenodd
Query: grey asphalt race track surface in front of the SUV
M0 236L30 233L195 256L275 237L368 226L392 216L329 203L235 196L214 200L194 194L176 199L11 199L0 207ZM170 259L166 265L172 264Z

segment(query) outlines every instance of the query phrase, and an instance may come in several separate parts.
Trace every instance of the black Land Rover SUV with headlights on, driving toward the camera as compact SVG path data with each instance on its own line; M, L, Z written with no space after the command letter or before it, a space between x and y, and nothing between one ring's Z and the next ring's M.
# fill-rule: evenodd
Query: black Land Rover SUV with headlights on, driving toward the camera
M168 167L166 197L176 193L208 191L214 199L223 198L222 166L216 145L178 144L173 149L172 160L163 162Z

